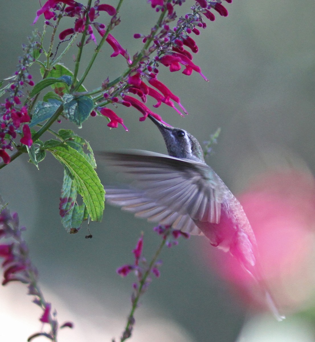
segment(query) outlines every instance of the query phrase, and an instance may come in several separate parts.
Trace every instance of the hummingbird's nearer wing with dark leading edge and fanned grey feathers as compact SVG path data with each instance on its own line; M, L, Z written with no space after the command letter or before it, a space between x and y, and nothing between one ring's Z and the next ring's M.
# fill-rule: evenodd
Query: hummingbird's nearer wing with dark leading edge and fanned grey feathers
M184 220L189 216L192 220L219 223L221 203L229 190L206 164L139 150L106 152L101 156L107 165L131 178L133 186L139 189L136 198L129 198L129 202L123 205L125 210L139 213L141 217L145 217L144 212L148 217L155 211L156 215L162 215L159 210L164 210L170 215L176 214L176 219L181 216ZM114 197L112 193L107 198L113 203ZM117 205L121 204L117 202ZM175 216L171 217L169 221Z

